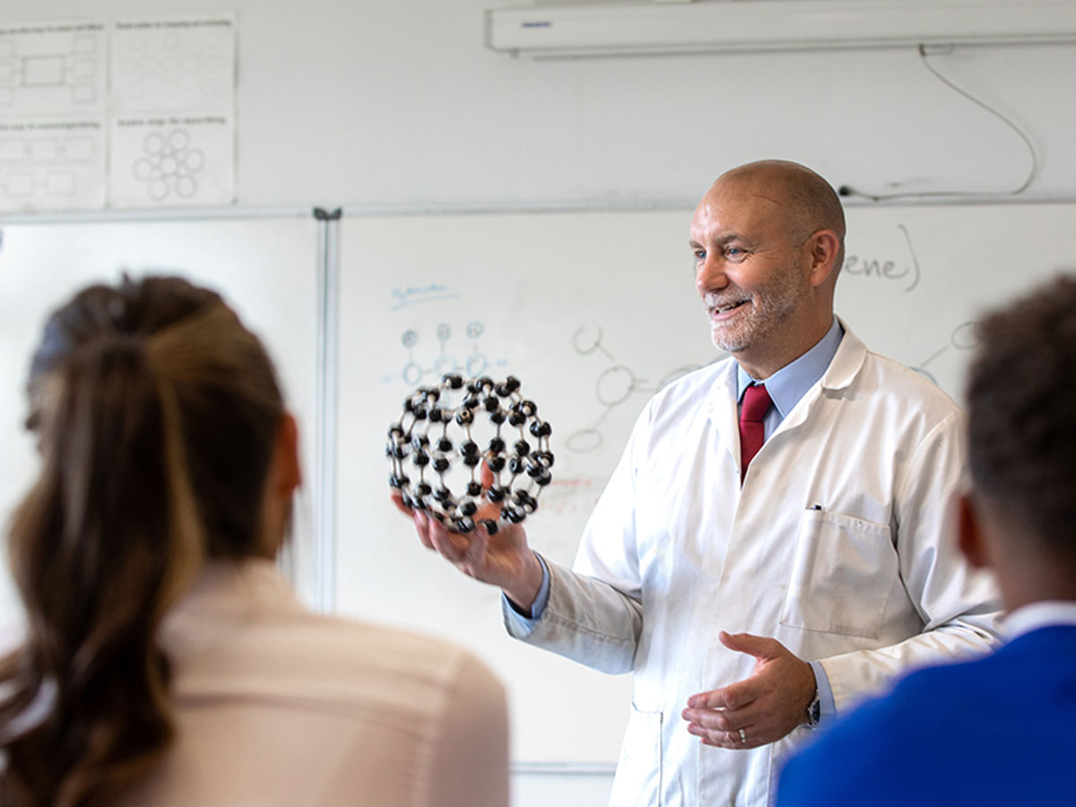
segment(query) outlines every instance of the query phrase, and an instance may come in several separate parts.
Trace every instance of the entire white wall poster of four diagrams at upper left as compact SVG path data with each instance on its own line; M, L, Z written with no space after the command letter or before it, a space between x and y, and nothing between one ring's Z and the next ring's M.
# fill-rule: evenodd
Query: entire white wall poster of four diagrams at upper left
M235 14L0 24L0 212L229 204L235 105Z

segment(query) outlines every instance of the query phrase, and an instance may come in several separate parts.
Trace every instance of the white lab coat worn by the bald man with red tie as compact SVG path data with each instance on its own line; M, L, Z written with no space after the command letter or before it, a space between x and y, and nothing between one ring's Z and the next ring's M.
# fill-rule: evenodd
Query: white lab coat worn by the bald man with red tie
M634 671L611 807L773 802L808 728L731 751L702 746L680 717L690 695L751 675L754 660L719 631L822 660L838 714L909 666L992 647L996 593L952 537L963 430L944 393L847 325L742 489L732 359L650 401L574 571L549 564L549 604L529 634L506 620L526 641Z

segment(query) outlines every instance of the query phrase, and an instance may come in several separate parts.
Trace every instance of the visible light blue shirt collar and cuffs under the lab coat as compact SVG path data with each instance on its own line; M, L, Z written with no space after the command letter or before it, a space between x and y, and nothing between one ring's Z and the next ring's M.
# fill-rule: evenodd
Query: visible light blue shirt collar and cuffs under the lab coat
M840 327L840 323L834 317L833 325L830 326L830 330L826 331L818 344L791 364L782 367L768 379L759 382L766 385L769 398L774 402L774 406L769 408L769 411L766 412L763 419L765 440L769 439L769 436L781 425L781 421L788 416L792 408L822 378L825 368L833 362L833 357L837 353L837 346L840 344L840 339L844 335L845 331ZM755 383L755 380L742 367L739 367L736 377L736 396L738 401L742 402L744 393L752 383ZM529 618L521 613L516 606L501 594L505 597L505 601L509 605L507 610L509 619L515 623L520 628L520 633L523 634L530 633L534 629L535 622L541 619L542 611L546 610L546 604L549 603L549 569L541 555L538 555L538 560L541 562L542 581L541 587L538 590L538 596L535 597L534 605L530 607ZM822 664L820 662L811 662L810 666L815 670L815 681L818 684L818 694L822 707L821 720L824 722L831 719L837 711L833 699L833 689L830 686L830 679L826 677Z

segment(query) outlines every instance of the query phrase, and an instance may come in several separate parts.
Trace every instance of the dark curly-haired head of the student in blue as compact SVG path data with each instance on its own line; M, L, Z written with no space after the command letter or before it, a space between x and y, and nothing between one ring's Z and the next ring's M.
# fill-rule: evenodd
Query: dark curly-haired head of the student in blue
M989 314L979 336L961 546L1009 608L1076 599L1076 277Z

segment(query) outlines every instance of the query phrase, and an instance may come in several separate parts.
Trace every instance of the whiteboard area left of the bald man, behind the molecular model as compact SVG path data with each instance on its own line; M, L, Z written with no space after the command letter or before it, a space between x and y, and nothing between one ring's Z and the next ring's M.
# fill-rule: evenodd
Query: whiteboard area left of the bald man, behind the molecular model
M498 592L424 550L390 505L385 434L416 383L516 376L556 455L530 540L570 563L641 406L713 357L683 215L345 217L340 242L338 608L475 650L509 685L514 760L615 760L629 677L510 639Z

